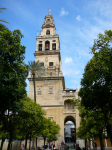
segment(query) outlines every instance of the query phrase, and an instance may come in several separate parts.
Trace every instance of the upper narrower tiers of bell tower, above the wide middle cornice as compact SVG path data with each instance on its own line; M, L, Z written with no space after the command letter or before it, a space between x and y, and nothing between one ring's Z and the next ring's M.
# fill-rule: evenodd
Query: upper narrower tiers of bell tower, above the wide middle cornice
M62 77L60 41L50 12L45 16L40 35L36 37L35 61L44 62L47 76Z

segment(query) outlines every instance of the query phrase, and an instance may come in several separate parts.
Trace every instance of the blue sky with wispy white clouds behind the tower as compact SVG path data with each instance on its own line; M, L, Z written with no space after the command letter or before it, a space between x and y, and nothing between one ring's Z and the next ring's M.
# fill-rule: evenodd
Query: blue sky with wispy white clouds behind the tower
M94 39L112 29L112 0L0 0L0 4L7 8L0 14L1 19L10 23L6 26L12 31L20 29L24 35L27 64L35 59L37 31L41 31L44 17L51 9L60 37L66 88L80 88Z

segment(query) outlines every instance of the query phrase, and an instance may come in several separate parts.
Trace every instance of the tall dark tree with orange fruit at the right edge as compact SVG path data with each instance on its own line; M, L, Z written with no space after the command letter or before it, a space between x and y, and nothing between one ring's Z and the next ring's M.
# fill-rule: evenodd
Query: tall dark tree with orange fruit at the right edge
M87 63L79 96L88 110L100 111L104 115L107 133L112 143L112 31L99 34L91 52L93 58Z

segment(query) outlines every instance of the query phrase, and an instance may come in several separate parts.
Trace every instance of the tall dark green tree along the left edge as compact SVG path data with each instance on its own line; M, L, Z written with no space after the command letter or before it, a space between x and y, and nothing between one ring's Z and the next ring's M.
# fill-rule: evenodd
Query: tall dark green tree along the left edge
M21 45L22 37L20 30L11 32L0 24L0 122L8 133L11 114L18 112L18 103L26 94L28 65L24 63L25 46Z

